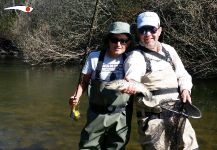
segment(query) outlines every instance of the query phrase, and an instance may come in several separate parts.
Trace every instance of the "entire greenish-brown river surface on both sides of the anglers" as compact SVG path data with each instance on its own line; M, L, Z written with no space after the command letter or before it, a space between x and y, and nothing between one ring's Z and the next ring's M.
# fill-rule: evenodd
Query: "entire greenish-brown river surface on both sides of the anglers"
M76 150L85 124L69 117L68 99L77 84L79 67L36 68L16 60L0 60L0 150ZM195 80L193 103L201 119L190 119L201 150L217 149L216 80ZM140 150L135 114L127 150Z

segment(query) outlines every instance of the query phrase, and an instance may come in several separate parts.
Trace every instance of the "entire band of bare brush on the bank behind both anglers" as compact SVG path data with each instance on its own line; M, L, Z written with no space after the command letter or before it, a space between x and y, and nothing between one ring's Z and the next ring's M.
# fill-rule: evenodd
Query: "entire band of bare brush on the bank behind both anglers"
M11 33L31 64L79 60L101 43L110 22L133 24L139 12L153 10L161 18L161 40L176 48L190 73L217 75L216 0L32 0L32 7L30 16L16 12Z

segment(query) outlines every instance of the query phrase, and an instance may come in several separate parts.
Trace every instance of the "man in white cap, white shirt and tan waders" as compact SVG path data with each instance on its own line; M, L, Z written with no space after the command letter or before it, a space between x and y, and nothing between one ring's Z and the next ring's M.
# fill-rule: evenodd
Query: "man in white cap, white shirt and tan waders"
M191 103L191 76L185 70L175 49L159 42L162 28L159 16L155 12L139 14L137 29L139 46L126 59L125 71L126 78L144 83L153 95L152 99L138 97L136 101L139 142L142 148L198 149L195 132L189 120L180 117L179 123L182 122L182 126L178 127L179 131L175 131L178 128L171 124L180 124L171 119L175 118L173 113L159 107L162 100L168 99ZM124 92L134 93L134 90L127 88Z

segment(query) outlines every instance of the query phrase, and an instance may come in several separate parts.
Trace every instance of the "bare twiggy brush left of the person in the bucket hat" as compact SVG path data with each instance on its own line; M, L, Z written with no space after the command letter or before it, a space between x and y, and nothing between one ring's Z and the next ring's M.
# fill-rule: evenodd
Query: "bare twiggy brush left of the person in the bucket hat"
M91 44L93 35L103 33L111 18L109 5L91 0L32 1L34 11L30 16L19 14L14 31L25 60L32 65L78 60L86 49L96 47Z

